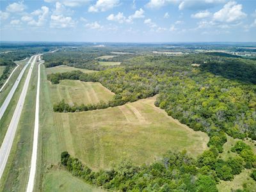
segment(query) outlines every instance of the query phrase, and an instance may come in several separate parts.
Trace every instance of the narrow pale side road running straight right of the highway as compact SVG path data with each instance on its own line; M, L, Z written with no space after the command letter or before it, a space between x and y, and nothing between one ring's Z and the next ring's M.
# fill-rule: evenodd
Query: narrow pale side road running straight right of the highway
M37 159L37 145L38 145L38 131L39 131L39 95L40 95L40 63L38 65L38 79L36 88L36 111L35 111L35 128L33 138L33 150L31 156L31 166L29 171L29 180L27 186L27 192L33 191L35 175L36 175L36 159Z

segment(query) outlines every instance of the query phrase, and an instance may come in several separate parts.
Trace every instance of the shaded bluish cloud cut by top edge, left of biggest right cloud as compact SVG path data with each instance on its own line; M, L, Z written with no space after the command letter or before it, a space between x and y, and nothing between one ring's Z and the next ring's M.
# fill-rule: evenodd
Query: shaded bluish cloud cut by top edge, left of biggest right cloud
M179 4L179 10L205 10L225 3L225 1L226 0L186 0Z

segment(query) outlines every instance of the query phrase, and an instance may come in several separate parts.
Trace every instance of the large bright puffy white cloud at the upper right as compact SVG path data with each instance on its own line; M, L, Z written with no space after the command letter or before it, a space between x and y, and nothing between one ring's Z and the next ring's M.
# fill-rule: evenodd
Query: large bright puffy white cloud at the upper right
M242 12L242 4L230 1L223 8L214 13L213 19L219 22L236 22L246 17L246 13Z

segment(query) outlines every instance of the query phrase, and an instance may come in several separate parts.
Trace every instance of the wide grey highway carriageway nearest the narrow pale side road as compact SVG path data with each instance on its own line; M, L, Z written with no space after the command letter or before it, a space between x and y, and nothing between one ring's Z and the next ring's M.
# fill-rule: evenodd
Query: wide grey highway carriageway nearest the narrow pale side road
M5 168L6 163L8 161L10 151L12 149L12 143L13 143L13 140L14 140L14 137L15 137L15 132L16 132L17 126L19 124L20 115L21 115L22 108L23 108L23 105L24 105L24 102L25 102L25 99L26 99L26 94L28 92L29 81L31 79L31 74L32 74L33 67L34 67L35 62L36 62L36 58L38 56L39 55L36 55L36 56L32 57L33 61L31 63L31 67L29 68L28 75L26 77L24 86L22 88L22 92L21 92L20 97L19 97L19 101L17 102L17 106L16 106L15 111L13 113L12 120L11 120L10 125L8 127L8 130L7 130L7 132L4 136L4 140L3 140L3 143L2 143L1 148L0 148L0 179L3 175L4 168ZM29 61L31 61L32 58ZM27 67L28 67L28 65L27 65ZM19 79L19 81L20 81L20 79Z

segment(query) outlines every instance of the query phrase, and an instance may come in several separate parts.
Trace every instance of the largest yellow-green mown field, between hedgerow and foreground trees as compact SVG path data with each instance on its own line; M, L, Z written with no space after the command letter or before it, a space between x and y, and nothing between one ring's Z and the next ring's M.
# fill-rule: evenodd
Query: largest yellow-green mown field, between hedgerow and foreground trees
M156 108L156 97L115 108L81 113L54 113L66 150L91 168L110 168L122 157L134 164L151 163L168 150L192 155L207 148L208 137Z

